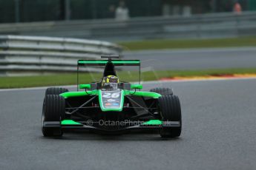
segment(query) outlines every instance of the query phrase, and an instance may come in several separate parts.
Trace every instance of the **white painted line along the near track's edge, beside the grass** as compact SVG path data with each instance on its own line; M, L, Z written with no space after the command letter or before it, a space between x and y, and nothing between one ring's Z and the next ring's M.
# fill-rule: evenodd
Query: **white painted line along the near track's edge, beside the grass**
M243 81L243 80L256 80L255 78L214 78L214 79L188 79L188 80L177 80L177 81L145 81L142 84L165 84L165 83L186 83L186 82L203 82L203 81ZM136 82L135 82L136 84ZM39 86L39 87L30 87L30 88L16 88L16 89L0 89L0 92L8 91L23 91L23 90L36 90L36 89L47 89L49 86ZM72 86L59 86L64 88L76 88L76 85Z

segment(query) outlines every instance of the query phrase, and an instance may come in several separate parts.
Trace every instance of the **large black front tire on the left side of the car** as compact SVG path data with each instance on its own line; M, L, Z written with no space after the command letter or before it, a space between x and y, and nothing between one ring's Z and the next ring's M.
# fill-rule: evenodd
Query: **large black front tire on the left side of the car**
M46 95L42 109L42 134L45 137L60 137L61 120L65 119L65 98L59 95ZM45 121L59 121L59 127L44 127Z

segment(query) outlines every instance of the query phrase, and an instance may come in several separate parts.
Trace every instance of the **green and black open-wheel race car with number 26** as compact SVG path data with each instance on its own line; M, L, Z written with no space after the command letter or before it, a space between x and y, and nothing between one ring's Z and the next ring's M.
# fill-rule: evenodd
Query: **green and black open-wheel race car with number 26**
M115 67L139 67L140 60L120 60L102 56L102 60L79 60L79 67L102 67L99 81L77 84L75 92L65 88L46 89L42 107L42 134L60 137L65 129L89 129L105 133L156 130L161 137L179 137L182 129L180 100L172 89L143 92L138 84L122 81ZM140 73L140 71L139 71ZM82 91L81 91L82 90Z

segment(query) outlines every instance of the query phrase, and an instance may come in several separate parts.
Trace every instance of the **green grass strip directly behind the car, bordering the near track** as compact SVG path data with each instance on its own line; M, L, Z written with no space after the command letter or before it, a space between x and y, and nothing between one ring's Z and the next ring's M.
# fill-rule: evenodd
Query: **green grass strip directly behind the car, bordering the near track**
M246 74L255 73L256 68L249 69L207 69L207 70L169 70L157 72L142 72L143 81L154 81L159 78L171 77L191 77L203 75L226 75L226 74ZM98 77L101 74L98 75ZM125 73L121 72L119 78L122 81ZM133 75L133 72L131 72ZM125 81L137 81L137 76L125 77ZM81 83L89 83L93 81L91 76L83 74L80 79ZM74 85L76 84L76 74L59 74L59 75L40 75L40 76L27 76L27 77L0 77L0 88L19 88L19 87L32 87L32 86L60 86L60 85Z

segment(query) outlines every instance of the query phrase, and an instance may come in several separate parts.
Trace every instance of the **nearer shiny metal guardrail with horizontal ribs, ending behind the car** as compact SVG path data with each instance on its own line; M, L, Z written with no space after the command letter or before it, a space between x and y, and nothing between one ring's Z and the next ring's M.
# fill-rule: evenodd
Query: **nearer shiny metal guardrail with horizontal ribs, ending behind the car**
M121 52L122 47L106 41L0 35L0 75L74 72L79 59L98 59L100 55Z

